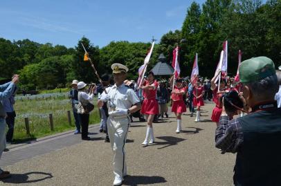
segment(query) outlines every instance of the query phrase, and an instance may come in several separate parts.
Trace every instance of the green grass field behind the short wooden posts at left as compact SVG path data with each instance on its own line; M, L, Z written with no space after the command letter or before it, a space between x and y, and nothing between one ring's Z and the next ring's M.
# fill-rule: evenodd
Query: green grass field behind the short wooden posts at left
M93 103L96 104L96 98ZM48 98L44 100L17 100L15 103L17 117L15 119L15 142L31 140L49 136L63 131L75 129L71 102L64 97ZM71 111L71 126L69 125L67 111ZM51 131L49 113L53 114L54 131ZM30 136L26 134L24 118L28 118ZM90 113L90 124L100 122L98 106Z

